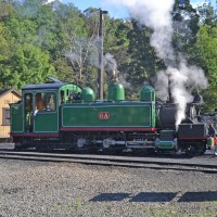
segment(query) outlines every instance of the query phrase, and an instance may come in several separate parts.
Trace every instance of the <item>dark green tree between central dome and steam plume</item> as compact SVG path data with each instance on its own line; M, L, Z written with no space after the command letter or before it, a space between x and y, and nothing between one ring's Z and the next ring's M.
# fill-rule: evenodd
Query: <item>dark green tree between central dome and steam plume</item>
M137 21L132 21L132 28L128 34L130 63L128 64L128 81L135 90L144 82L153 85L156 72L164 68L163 62L156 56L154 48L150 44L152 30Z

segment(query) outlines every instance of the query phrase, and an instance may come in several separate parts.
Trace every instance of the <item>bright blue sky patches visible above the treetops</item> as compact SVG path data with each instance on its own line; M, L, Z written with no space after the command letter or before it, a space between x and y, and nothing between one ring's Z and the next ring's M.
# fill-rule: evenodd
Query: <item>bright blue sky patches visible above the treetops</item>
M105 0L62 0L64 3L73 3L80 11L85 11L87 8L101 8L102 10L108 11L110 16L115 18L125 18L128 16L128 12L124 7L115 7L106 3ZM117 0L118 1L118 0ZM141 0L142 1L142 0ZM191 0L192 5L202 4L206 0ZM215 5L215 0L210 0Z

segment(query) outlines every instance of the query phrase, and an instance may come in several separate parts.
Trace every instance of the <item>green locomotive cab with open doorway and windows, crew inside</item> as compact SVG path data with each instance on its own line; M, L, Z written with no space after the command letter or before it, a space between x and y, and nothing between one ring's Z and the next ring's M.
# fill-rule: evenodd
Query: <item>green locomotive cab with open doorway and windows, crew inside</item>
M22 102L11 105L11 136L20 145L25 140L59 137L59 106L71 92L80 92L75 85L55 81L22 88ZM22 141L22 142L21 142ZM31 141L34 143L34 139Z

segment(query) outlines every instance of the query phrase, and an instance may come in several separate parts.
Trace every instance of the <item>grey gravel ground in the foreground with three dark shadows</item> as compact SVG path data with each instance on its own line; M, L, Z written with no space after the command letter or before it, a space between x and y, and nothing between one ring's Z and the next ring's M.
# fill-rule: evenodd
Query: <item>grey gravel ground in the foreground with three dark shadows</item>
M0 217L217 216L217 174L0 159Z

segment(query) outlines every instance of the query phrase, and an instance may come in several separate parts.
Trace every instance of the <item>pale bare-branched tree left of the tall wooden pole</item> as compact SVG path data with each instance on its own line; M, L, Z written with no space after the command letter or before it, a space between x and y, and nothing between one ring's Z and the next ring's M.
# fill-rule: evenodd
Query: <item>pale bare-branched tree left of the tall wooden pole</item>
M64 9L64 13L62 10ZM58 11L59 28L61 29L62 55L76 75L76 82L84 84L85 67L93 44L86 25L86 17L72 4L62 5Z

